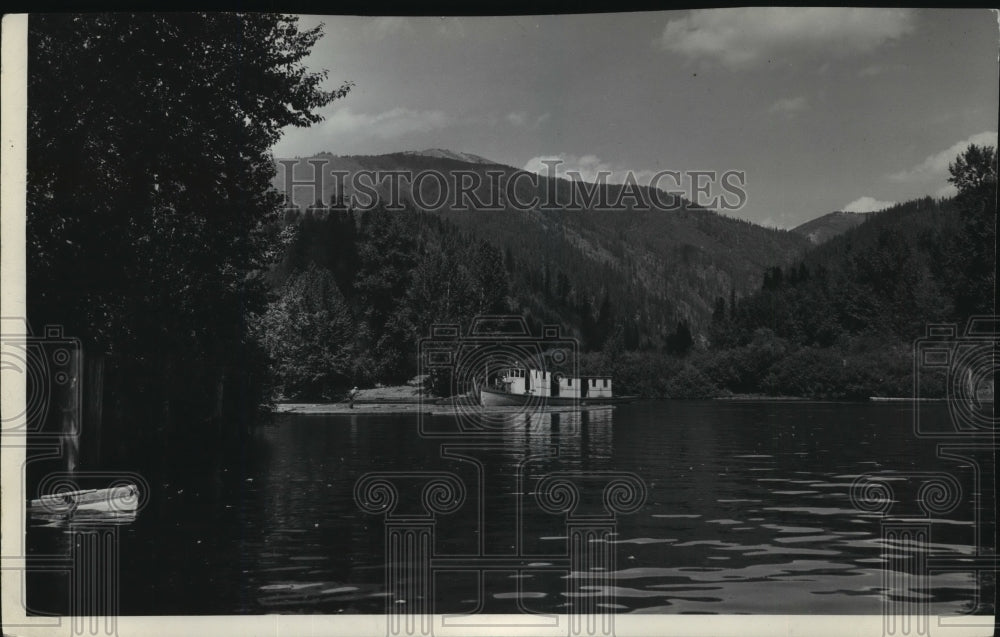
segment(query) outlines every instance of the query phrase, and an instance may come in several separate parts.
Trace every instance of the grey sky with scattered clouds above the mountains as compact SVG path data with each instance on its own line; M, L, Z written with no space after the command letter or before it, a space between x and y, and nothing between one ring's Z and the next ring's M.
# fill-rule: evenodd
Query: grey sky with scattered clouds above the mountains
M726 214L791 228L946 196L996 145L997 14L734 8L461 18L302 16L307 65L354 83L277 157L444 148L534 169L739 170ZM614 178L612 178L614 181ZM640 180L641 183L641 180Z

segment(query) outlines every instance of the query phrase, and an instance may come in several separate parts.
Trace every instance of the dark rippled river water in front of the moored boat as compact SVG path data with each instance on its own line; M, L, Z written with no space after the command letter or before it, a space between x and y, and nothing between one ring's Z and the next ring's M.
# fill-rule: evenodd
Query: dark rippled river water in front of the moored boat
M943 404L917 408L949 417ZM373 471L410 474L397 480L394 512L407 519L423 511L413 490L421 472L450 472L464 486L431 531L437 612L566 612L592 593L616 612L878 614L887 600L992 612L992 579L962 570L994 554L992 458L940 453L940 440L914 434L913 409L652 401L509 417L485 438L422 435L430 421L414 414L281 415L207 475L147 470L149 505L117 529L120 614L380 613L414 603L386 586L385 516L356 500L355 484ZM589 574L565 566L566 519L536 497L553 472L586 484L631 474L643 485L638 510L591 542L610 561L586 562L604 565ZM937 497L920 491L928 472L957 485L942 496L954 502L930 514L919 506ZM895 487L887 511L852 500L864 475ZM584 487L581 497L600 505L599 495ZM923 525L927 541L887 539L891 522ZM65 552L68 531L29 522L29 554ZM506 570L467 568L481 554ZM950 566L926 581L885 578L925 558ZM587 586L574 588L583 577ZM29 574L29 606L65 612L66 585Z

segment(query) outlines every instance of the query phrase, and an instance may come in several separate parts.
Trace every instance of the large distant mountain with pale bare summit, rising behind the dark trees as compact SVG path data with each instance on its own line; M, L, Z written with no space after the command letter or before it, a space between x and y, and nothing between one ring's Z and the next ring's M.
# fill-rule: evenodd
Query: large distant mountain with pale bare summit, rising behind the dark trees
M570 202L578 184L452 151L344 157L324 153L300 158L294 160L296 184L308 184L312 176L308 164L320 160L324 162L324 201L349 201L352 196L364 200L365 191L372 190L390 202L390 180L369 188L365 180L354 180L363 171L436 172L448 179L464 171L480 182L470 193L488 206L454 201L454 197L441 206L417 205L438 199L436 178L423 180L416 193L410 184L401 182L397 199L410 209L428 210L462 235L501 250L511 273L509 285L516 305L512 311L583 332L588 316L596 317L603 307L606 320L613 314L616 325L631 331L636 347L662 346L680 321L690 323L695 335L704 334L717 299L750 293L767 268L791 262L810 245L797 233L757 226L683 200L677 200L676 210L644 209L631 202L622 210L599 209L595 201L602 198L625 200L621 185L598 186L595 200L576 201L560 209L517 206L512 197L521 202L533 197ZM284 191L283 173L279 166L275 180L279 191ZM490 174L501 180L491 181ZM652 191L640 190L648 200ZM300 207L315 203L312 186L298 186L292 194ZM311 248L313 252L323 249L328 248Z

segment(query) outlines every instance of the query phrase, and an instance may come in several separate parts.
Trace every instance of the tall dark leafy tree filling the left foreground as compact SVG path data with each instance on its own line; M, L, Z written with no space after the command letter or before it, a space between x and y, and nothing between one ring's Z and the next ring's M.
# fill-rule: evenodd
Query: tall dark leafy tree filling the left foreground
M270 148L349 88L302 65L320 35L282 15L31 17L29 319L109 355L123 418L197 423L221 378L254 406Z

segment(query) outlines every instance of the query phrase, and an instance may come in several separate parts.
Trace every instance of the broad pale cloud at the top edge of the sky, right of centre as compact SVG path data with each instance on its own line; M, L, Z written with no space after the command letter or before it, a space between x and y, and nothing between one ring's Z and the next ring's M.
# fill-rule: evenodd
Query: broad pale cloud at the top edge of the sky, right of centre
M731 70L804 56L870 53L915 29L909 9L747 7L701 9L671 20L660 46Z

